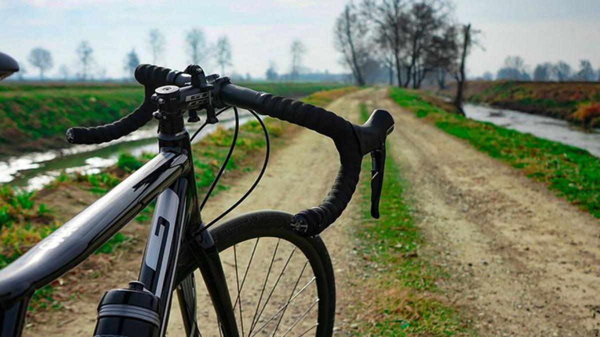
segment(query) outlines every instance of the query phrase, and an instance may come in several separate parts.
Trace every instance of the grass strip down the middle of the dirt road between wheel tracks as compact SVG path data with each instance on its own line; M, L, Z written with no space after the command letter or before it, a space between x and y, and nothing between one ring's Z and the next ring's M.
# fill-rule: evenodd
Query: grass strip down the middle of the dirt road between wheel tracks
M364 104L361 116L368 117ZM370 161L365 160L363 164L363 171L368 172ZM377 268L369 270L366 283L374 287L368 291L371 297L359 306L361 317L367 317L361 322L359 335L471 334L472 329L461 313L445 303L437 291L436 281L448 275L419 255L424 238L415 227L410 205L404 197L402 173L394 159L388 156L386 160L380 219L374 220L370 215L370 180L362 179L359 191L363 222L356 233L361 239L359 252Z

